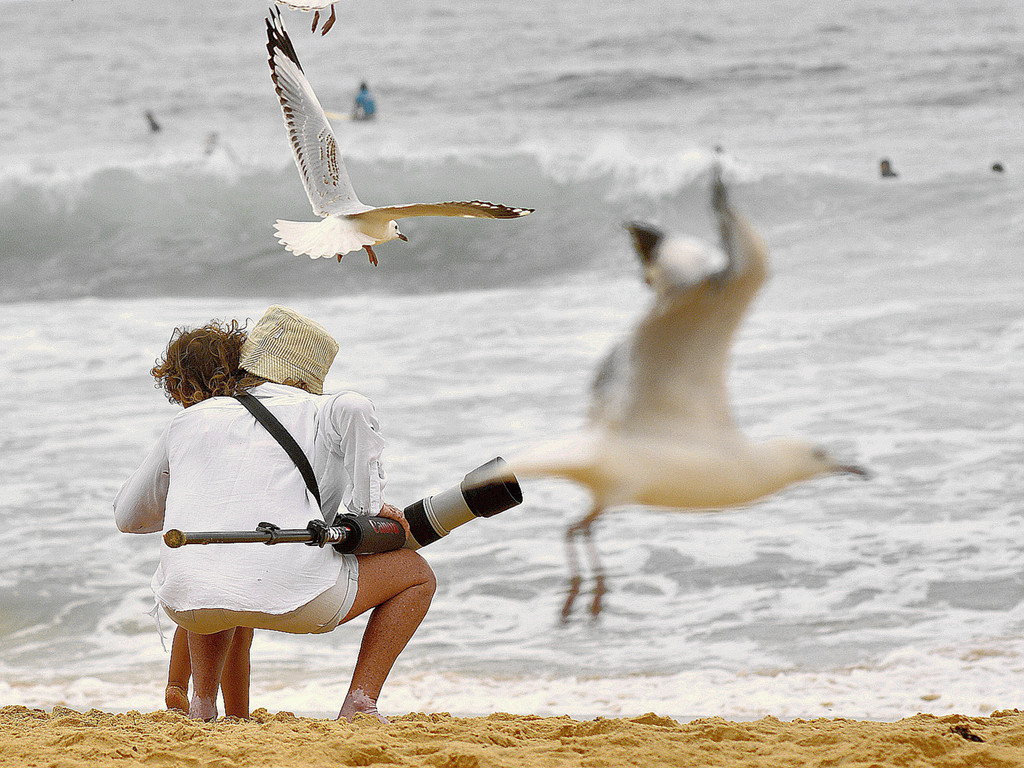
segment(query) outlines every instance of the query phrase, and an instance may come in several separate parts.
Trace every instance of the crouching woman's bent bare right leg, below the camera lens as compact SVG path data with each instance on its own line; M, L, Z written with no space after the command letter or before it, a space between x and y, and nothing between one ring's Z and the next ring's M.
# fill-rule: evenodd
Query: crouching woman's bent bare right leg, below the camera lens
M374 612L362 633L339 719L352 720L362 712L388 722L377 712L377 698L395 659L426 615L436 586L427 561L413 550L359 557L358 591L344 621L371 608Z

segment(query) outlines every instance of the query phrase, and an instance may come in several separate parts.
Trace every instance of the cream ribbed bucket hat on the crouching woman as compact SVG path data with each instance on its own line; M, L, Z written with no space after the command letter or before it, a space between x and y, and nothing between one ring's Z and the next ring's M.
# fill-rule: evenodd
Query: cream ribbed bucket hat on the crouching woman
M323 394L324 378L337 353L338 342L322 325L274 304L249 332L239 365L278 384L297 379L313 394Z

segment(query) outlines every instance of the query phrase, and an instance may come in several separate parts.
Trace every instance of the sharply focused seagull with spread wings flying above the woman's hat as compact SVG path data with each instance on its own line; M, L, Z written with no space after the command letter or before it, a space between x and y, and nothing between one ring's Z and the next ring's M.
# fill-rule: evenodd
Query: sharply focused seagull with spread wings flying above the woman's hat
M270 10L266 19L266 48L270 74L285 116L288 138L302 183L321 221L276 223L278 240L296 255L309 258L341 257L362 248L373 264L373 246L400 239L395 219L411 216L461 216L466 218L515 219L531 208L512 208L479 200L451 203L413 203L375 208L355 197L338 143L316 94L306 80L299 57L288 37L281 13Z

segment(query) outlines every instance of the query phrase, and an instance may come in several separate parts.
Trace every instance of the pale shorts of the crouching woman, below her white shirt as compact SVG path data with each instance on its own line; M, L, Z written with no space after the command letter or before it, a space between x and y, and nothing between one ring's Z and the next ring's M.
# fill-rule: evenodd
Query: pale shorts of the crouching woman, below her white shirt
M359 586L359 561L355 555L342 555L342 557L344 562L337 583L305 605L300 605L287 613L263 613L257 610L227 608L173 610L166 605L163 608L176 625L200 635L212 635L233 627L290 632L294 635L318 635L330 632L341 624L352 609Z

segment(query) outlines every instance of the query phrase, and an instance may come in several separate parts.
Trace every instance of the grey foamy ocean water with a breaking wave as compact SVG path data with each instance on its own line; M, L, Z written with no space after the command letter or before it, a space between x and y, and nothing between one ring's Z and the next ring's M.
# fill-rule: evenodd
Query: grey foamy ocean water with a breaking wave
M712 237L721 145L773 268L734 350L737 419L873 479L609 513L605 613L564 627L562 536L588 500L524 481L521 507L424 550L437 596L382 711L1019 707L1021 4L337 9L326 38L285 19L328 110L376 92L380 120L336 125L360 198L535 214L409 220L376 268L292 256L272 222L309 210L262 4L0 0L0 703L162 706L159 543L119 534L111 501L175 412L147 376L175 326L272 302L323 322L328 387L377 404L403 506L582 424L648 301L621 223ZM259 633L253 706L333 715L361 629Z

